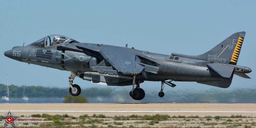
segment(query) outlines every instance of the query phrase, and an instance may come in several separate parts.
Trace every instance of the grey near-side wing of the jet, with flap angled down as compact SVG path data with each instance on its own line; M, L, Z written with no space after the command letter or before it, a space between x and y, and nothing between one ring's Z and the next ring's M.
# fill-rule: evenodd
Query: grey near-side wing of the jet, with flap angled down
M108 45L88 46L88 45L77 45L79 49L99 52L100 55L111 64L118 72L122 72L126 75L136 75L142 73L147 78L145 72L151 72L154 74L158 73L159 67L151 66L148 64L141 63L140 54L132 52L131 50L125 50L119 47L111 47ZM143 58L143 57L142 57ZM145 59L145 58L143 58Z

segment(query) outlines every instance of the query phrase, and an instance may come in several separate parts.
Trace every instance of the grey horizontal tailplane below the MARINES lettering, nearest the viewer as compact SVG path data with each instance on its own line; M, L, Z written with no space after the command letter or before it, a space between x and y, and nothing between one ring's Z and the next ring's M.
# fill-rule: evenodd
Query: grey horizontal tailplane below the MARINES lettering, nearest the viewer
M211 63L207 64L210 68L212 68L215 72L217 72L220 76L225 78L230 78L234 71L234 67L228 66L226 64L216 64Z

